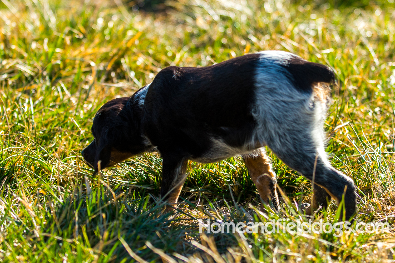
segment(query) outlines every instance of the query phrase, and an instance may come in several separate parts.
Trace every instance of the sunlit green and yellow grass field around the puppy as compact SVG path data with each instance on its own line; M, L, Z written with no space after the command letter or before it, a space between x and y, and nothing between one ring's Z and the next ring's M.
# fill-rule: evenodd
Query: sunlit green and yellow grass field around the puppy
M137 1L2 0L0 261L392 262L393 233L199 235L196 218L303 220L298 206L311 184L270 151L281 212L255 212L256 188L234 157L190 162L179 212L169 215L157 203L158 153L92 176L81 150L100 106L132 95L166 66L290 51L335 70L327 152L358 188L354 224L392 227L393 2L169 0L145 13ZM322 218L334 222L336 212L332 202Z

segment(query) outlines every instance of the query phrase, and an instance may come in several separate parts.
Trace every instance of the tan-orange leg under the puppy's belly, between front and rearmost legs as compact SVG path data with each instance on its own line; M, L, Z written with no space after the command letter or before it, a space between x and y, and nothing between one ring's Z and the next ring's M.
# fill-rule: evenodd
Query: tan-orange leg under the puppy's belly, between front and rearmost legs
M270 159L265 154L264 149L257 149L256 151L243 155L242 157L261 199L265 203L271 202L273 207L278 210L276 173L273 172ZM261 208L263 208L263 203Z

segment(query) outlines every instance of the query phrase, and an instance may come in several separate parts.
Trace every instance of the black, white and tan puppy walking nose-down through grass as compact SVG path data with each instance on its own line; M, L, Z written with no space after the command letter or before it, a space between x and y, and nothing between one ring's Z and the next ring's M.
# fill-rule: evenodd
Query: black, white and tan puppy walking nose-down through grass
M333 71L292 53L262 51L208 67L162 69L131 97L96 113L83 158L94 168L157 149L163 158L160 196L175 206L188 160L218 162L241 155L261 200L278 209L276 174L267 146L312 182L306 214L344 197L356 210L354 181L331 166L324 121Z

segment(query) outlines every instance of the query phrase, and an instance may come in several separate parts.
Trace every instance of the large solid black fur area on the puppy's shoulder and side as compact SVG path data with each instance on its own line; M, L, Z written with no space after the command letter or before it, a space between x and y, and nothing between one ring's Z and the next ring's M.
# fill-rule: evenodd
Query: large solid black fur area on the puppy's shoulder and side
M150 84L144 130L159 151L201 157L211 137L234 147L251 139L253 75L259 54L203 68L167 67ZM169 105L171 105L169 107Z

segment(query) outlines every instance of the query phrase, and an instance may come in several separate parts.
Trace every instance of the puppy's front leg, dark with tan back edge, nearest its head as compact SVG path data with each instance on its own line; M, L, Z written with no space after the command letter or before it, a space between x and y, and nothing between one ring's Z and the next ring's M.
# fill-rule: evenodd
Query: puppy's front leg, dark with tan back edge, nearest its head
M176 207L182 185L186 179L188 158L169 154L162 154L162 157L162 188L160 189L160 197L172 207ZM166 210L171 210L171 207L167 207Z

